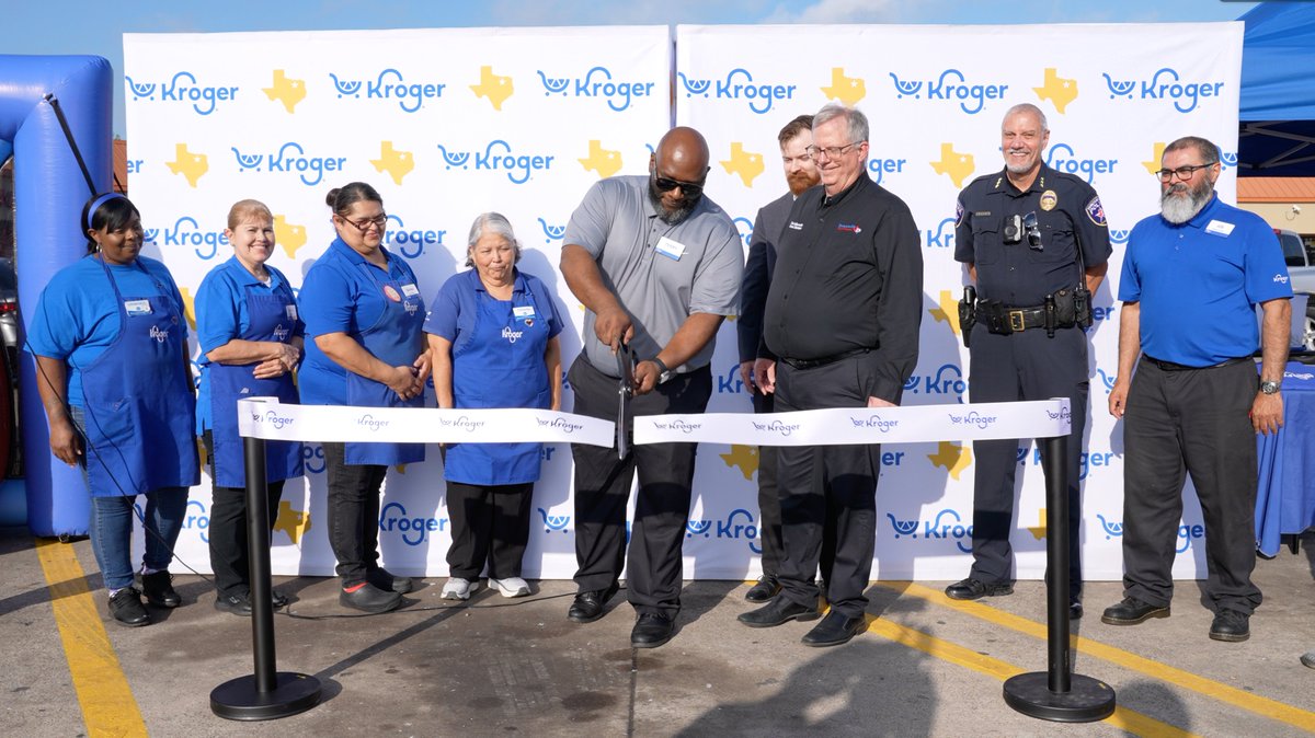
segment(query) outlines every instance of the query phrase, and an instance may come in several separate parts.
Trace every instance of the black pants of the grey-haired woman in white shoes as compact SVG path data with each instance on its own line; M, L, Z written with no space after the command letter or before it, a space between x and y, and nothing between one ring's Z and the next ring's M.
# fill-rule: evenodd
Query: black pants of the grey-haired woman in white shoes
M534 482L488 486L447 482L447 515L452 519L448 575L477 579L488 563L493 579L519 576L525 546L530 542L533 494Z

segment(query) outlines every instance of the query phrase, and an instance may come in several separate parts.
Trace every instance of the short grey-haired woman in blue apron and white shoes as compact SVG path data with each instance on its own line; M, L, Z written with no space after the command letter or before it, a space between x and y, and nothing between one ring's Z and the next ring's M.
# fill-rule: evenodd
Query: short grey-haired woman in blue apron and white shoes
M468 272L452 276L425 320L439 407L534 407L562 402L562 319L552 292L515 268L521 247L498 213L475 219ZM452 546L443 599L464 600L488 566L504 597L530 594L521 559L543 444L451 444L443 457Z

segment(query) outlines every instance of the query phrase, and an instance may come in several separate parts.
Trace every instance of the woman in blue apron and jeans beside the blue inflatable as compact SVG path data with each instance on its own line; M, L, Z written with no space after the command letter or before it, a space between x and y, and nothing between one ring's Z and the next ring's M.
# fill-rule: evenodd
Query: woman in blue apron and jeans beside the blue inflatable
M142 219L126 197L89 200L80 230L89 255L42 290L29 348L50 450L84 471L109 613L122 625L147 625L142 594L156 607L181 604L168 565L188 487L200 481L187 320L168 269L139 256ZM132 561L137 495L146 496L141 591Z

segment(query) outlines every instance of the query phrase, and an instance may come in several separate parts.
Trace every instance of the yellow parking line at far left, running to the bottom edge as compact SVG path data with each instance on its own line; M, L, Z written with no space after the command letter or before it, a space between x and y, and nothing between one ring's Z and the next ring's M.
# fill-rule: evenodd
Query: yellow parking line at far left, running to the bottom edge
M38 540L37 558L46 574L50 604L55 611L55 624L87 734L146 735L146 722L96 612L95 597L87 590L85 574L74 555L74 548Z

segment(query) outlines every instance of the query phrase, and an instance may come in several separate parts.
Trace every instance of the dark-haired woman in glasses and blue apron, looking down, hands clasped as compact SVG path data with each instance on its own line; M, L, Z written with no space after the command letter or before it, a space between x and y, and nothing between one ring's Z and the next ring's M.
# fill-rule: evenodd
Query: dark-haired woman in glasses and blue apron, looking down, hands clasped
M364 183L327 197L338 238L297 295L306 322L299 380L305 404L422 407L429 380L425 301L410 267L383 247L383 198ZM401 604L412 580L379 566L379 490L388 466L425 460L423 444L325 443L329 544L338 601L364 612Z

